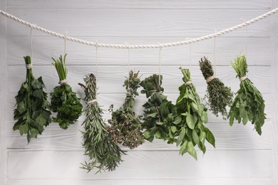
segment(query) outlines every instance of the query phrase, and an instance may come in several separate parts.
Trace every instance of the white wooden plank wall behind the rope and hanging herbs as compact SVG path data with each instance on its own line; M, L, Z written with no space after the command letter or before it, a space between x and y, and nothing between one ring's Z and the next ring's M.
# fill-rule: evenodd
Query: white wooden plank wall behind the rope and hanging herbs
M276 8L277 0L246 1L159 1L159 0L0 0L0 8L38 26L69 36L101 43L153 44L182 41L235 26ZM198 161L178 148L155 140L123 157L124 162L113 172L94 174L80 169L86 160L81 147L83 117L62 130L51 123L43 135L27 144L26 137L14 132L14 96L25 78L24 56L30 55L30 29L1 18L1 184L277 184L277 37L278 16L264 19L247 28L248 77L263 93L267 121L262 136L246 126L229 126L210 114L209 127L215 134L216 149L207 144L207 153ZM6 24L5 24L6 23ZM5 27L6 25L6 27ZM63 54L63 40L38 31L33 32L34 75L43 76L47 92L58 83L51 57ZM197 65L202 56L213 61L213 39L192 44L192 82L204 95L206 83ZM217 76L236 91L239 80L229 65L230 60L245 53L245 29L216 39ZM66 43L68 81L82 96L78 82L87 73L96 73L95 48ZM128 74L128 51L99 48L98 102L105 110L111 103L118 107L125 98L123 80ZM175 102L182 83L180 66L190 66L190 47L163 48L162 68L165 95ZM140 70L142 80L158 73L158 49L131 50L130 69ZM276 74L276 75L275 75ZM270 88L271 87L271 88ZM136 111L142 113L144 95ZM110 115L105 112L107 120Z

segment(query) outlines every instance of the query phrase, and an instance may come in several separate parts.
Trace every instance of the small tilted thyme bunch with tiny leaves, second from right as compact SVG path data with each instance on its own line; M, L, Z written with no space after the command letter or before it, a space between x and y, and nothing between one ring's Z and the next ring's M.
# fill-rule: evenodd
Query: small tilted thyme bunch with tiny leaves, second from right
M233 93L231 88L225 86L219 78L215 77L212 64L207 58L201 58L199 63L202 75L207 81L207 95L205 95L208 99L207 104L210 106L212 114L218 116L218 113L220 113L226 120L228 115L226 107L232 103Z

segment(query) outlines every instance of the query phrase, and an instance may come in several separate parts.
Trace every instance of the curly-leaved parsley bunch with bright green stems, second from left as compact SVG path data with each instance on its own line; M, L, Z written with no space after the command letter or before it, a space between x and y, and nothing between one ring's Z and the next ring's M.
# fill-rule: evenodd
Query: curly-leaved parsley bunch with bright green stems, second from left
M52 63L58 73L60 82L56 86L51 95L51 108L53 112L58 112L56 117L53 117L54 122L58 122L62 129L67 129L69 125L81 116L82 105L80 99L76 97L66 81L68 70L66 69L66 55L58 58Z

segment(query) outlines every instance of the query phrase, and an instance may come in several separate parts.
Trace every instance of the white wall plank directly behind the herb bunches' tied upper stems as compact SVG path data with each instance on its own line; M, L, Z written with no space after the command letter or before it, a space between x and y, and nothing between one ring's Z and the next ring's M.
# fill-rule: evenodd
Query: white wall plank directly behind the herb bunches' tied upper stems
M68 58L68 60L71 60ZM24 63L24 60L21 60ZM9 85L7 91L9 93L17 93L21 83L24 82L26 76L26 69L24 65L8 66ZM190 68L190 66L183 66L183 68ZM143 75L141 80L144 80L153 73L158 73L158 66L135 66L130 69L140 70ZM46 85L46 91L51 92L53 88L58 85L58 75L54 66L52 65L34 65L34 75L38 78L39 75L43 76L43 81ZM270 93L269 86L272 79L271 66L249 66L248 78L252 80L254 85L261 91L261 93ZM82 66L68 66L68 83L72 86L73 90L78 93L83 93L78 83L83 82L84 75L88 73L95 73L95 65L82 65ZM197 93L205 93L207 84L202 76L199 66L192 66L191 70L192 82L197 89ZM235 70L231 66L219 66L216 69L218 78L222 80L227 86L231 87L233 91L237 91L240 85L240 80L235 78ZM96 74L95 74L96 75ZM128 66L108 65L98 66L98 93L126 93L125 88L122 87L125 76L128 75ZM182 85L182 73L177 66L161 66L161 75L163 75L163 88L165 88L165 95L179 93L178 87Z

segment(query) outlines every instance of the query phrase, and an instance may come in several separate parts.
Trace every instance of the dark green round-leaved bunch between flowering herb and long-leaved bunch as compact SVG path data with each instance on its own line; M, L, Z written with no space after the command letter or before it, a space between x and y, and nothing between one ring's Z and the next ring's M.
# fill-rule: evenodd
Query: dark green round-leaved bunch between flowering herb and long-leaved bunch
M143 107L143 128L144 136L150 142L154 137L157 139L168 140L169 144L175 142L175 124L180 120L176 117L175 105L167 100L163 95L163 88L160 86L163 76L151 75L145 78L140 85L143 87L141 93L148 98Z

